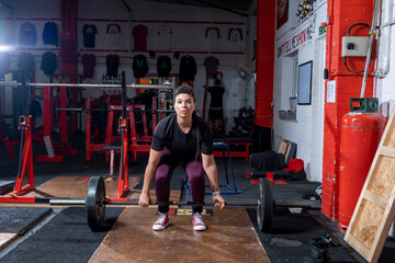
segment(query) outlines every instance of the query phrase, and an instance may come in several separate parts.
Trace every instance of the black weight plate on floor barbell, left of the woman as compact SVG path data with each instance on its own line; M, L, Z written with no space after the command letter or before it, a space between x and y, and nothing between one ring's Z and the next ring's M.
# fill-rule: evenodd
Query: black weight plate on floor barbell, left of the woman
M105 216L105 185L101 176L92 176L88 183L87 194L88 225L93 231L103 228Z

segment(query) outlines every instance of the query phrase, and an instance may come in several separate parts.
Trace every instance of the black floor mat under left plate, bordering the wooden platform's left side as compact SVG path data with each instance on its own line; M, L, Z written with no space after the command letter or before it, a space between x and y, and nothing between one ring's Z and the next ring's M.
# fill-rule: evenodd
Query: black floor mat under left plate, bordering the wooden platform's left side
M109 229L122 210L122 207L105 209L105 225ZM108 231L91 231L86 208L70 207L60 211L47 225L0 259L0 262L87 262L106 233Z

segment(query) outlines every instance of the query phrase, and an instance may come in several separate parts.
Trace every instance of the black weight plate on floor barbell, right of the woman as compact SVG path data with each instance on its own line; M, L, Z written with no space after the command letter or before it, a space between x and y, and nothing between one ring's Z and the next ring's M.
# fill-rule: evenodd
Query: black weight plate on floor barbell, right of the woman
M273 218L273 193L269 179L259 179L257 221L259 230L270 229Z

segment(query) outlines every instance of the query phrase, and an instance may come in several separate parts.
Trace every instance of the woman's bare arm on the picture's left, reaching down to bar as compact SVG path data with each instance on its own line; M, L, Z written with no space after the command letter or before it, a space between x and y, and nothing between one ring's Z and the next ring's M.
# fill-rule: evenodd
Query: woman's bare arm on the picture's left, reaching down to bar
M161 151L150 149L148 164L144 173L143 191L138 202L139 206L148 207L149 205L150 202L149 190L153 184L155 172L159 164L160 158L161 158Z

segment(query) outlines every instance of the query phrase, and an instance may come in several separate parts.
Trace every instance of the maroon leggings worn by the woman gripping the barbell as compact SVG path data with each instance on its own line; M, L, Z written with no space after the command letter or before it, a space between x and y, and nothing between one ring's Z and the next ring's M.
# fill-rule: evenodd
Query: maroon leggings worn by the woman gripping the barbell
M155 175L155 190L157 199L159 202L168 202L170 197L170 180L174 169L181 165L185 172L188 180L191 183L191 196L193 202L204 201L204 170L202 165L202 158L198 160L179 160L173 157L168 149L162 151L162 156ZM193 206L193 213L202 213L202 206ZM159 205L160 213L169 211L169 205Z

